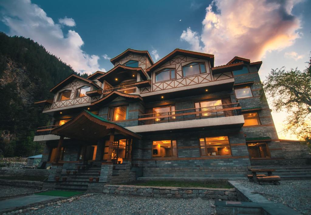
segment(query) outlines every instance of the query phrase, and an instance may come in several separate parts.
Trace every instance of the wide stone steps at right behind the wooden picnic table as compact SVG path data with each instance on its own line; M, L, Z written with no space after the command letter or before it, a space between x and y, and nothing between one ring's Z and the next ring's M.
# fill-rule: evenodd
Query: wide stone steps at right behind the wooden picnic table
M288 166L252 166L252 169L275 169L272 175L280 176L283 180L311 179L311 165Z

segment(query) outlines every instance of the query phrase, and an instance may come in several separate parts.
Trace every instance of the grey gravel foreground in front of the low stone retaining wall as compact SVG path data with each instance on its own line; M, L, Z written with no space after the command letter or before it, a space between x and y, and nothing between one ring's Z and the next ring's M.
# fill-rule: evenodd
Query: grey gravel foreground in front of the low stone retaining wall
M95 194L60 206L48 206L27 214L213 214L210 199L155 199Z

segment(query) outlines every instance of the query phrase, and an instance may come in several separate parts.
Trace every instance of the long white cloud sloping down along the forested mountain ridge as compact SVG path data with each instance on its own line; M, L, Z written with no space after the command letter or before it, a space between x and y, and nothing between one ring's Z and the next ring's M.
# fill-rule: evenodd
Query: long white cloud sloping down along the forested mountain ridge
M106 71L99 68L99 56L82 50L84 42L76 31L68 30L64 35L61 25L55 24L44 10L30 0L1 1L0 6L4 9L2 21L10 28L9 35L33 39L79 73Z

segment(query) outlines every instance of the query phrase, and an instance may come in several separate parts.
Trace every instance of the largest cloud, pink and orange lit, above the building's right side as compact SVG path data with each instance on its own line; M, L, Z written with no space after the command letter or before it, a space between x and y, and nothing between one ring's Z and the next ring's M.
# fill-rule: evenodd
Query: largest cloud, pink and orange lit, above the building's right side
M233 56L260 60L267 52L289 47L299 38L300 20L291 14L298 2L214 0L206 8L202 34L189 27L180 38L194 51L215 54L217 64L225 64Z

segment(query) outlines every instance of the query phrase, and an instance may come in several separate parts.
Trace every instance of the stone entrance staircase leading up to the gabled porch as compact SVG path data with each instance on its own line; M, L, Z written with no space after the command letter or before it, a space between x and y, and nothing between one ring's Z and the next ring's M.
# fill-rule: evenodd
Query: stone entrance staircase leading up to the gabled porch
M81 190L86 191L90 183L89 178L99 178L100 176L100 167L93 167L91 165L86 165L85 169L82 169L82 166L79 170L70 170L70 174L62 173L59 179L60 183L55 189L58 190ZM68 169L69 171L69 169ZM77 174L73 174L73 171L77 171ZM63 177L67 177L66 181L63 181Z

